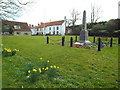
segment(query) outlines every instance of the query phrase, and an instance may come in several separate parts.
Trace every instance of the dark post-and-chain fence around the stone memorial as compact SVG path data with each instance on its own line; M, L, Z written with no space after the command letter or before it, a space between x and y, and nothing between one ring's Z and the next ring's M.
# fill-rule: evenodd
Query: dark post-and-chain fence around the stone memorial
M70 45L70 47L73 47L73 43L74 42L77 42L77 36L75 37L75 40L73 41L73 37L70 37L70 41L66 41L65 42L65 36L63 36L61 39L58 39L58 40L54 40L54 39L50 39L48 36L47 36L47 40L46 40L46 43L49 44L49 42L51 41L61 41L61 42L57 42L57 43L50 43L52 45L61 45L61 46L65 46L65 45ZM102 42L102 41L108 41L108 42ZM103 44L105 44L107 47L110 46L112 47L113 46L113 38L111 37L110 40L108 40L108 37L99 37L98 40L97 40L97 43L96 43L96 37L94 36L93 37L93 43L97 44L98 47L97 47L97 50L98 51L101 51L101 48L104 47ZM118 37L118 44L120 44L120 37Z

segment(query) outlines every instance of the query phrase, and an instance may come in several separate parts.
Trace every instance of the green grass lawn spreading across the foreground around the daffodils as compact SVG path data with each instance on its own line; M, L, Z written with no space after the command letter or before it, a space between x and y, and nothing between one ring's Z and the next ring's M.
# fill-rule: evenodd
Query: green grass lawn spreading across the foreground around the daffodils
M69 37L66 36L66 41ZM50 38L57 40L61 36ZM92 39L89 37L90 41ZM44 36L3 36L2 40L3 47L20 50L15 56L2 58L3 88L118 88L118 45L98 52L46 44ZM50 41L54 42L57 41ZM40 57L60 66L60 76L43 76L41 80L29 83L24 68L28 63L39 65Z

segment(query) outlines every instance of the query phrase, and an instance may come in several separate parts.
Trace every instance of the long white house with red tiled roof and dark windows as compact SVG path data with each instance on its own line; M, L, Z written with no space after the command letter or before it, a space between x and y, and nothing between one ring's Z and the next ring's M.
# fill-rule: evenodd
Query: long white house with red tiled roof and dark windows
M65 20L41 23L37 27L39 34L65 35Z

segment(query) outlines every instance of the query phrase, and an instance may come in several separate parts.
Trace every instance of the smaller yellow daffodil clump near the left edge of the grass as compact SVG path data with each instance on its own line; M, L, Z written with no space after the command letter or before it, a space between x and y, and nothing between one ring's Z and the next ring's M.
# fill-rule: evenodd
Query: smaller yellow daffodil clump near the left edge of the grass
M10 48L4 48L3 50L2 50L2 55L3 56L13 56L13 55L15 55L16 54L16 52L17 51L19 51L19 50L17 50L17 49L10 49Z

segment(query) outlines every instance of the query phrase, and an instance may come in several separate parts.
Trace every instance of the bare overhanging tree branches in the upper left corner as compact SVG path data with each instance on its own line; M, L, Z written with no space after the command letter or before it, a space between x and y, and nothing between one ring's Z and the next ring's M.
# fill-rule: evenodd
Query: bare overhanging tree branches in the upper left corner
M22 3L20 0L0 0L0 19L15 19L20 16L23 5L31 2Z

